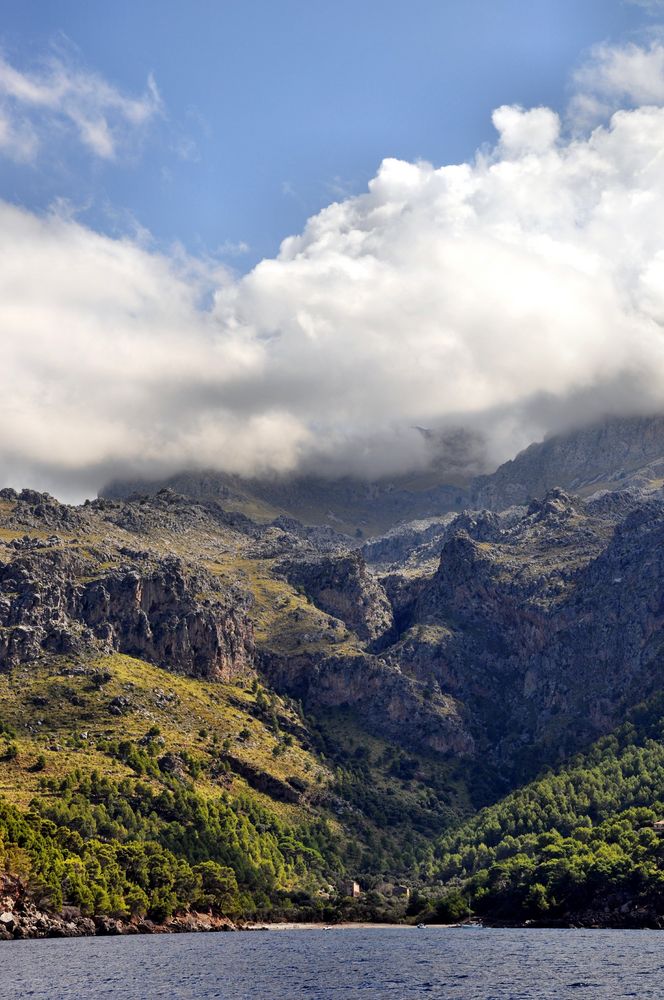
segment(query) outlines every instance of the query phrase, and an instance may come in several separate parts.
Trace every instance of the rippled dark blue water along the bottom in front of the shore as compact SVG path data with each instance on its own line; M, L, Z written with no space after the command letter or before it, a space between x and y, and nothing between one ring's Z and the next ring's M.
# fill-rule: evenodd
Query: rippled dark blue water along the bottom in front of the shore
M0 944L0 996L33 1000L664 997L657 931L269 931Z

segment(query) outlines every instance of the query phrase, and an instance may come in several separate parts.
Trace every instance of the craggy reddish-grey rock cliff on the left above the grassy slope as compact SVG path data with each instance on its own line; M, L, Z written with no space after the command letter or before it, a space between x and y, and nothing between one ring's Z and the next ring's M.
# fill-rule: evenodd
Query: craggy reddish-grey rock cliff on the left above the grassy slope
M193 676L230 679L250 669L248 601L221 592L177 559L135 559L95 579L69 551L20 552L0 562L0 667L43 652L114 649ZM202 589L210 596L201 599Z

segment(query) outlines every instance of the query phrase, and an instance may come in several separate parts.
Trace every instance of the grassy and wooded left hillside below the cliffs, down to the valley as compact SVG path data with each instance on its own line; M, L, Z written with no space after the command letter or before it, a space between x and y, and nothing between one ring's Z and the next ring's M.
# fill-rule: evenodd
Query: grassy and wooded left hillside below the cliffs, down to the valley
M155 920L402 918L339 879L426 876L432 838L473 809L458 768L348 712L314 724L257 678L121 655L0 674L0 793L0 869L54 907Z

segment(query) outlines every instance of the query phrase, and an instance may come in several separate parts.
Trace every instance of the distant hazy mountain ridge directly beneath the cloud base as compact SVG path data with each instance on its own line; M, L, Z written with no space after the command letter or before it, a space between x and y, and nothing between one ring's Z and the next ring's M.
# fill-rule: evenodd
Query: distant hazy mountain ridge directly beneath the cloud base
M463 509L501 511L560 487L589 496L600 490L639 492L664 485L664 416L612 417L530 445L495 472L468 478L458 456L449 468L363 482L313 476L246 479L211 470L162 480L117 480L101 496L153 496L161 489L216 500L259 523L279 516L328 525L358 538L382 537L396 525L433 520ZM426 525L425 525L426 526Z

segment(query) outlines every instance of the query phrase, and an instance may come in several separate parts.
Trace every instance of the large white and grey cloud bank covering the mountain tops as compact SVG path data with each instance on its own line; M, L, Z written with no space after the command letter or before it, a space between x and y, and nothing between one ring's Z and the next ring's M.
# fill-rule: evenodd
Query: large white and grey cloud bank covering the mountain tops
M0 204L2 479L375 477L458 428L475 471L661 409L664 48L600 47L575 88L498 108L472 162L385 160L241 278Z

